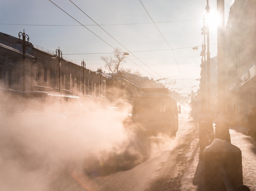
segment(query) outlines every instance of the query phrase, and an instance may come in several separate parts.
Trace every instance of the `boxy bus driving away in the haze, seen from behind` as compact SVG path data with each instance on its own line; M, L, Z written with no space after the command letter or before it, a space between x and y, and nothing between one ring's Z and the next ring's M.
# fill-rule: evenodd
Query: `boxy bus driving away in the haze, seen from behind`
M138 131L148 136L175 136L178 131L177 101L170 95L168 88L142 88L144 93L134 99L132 123ZM179 108L179 110L178 110Z

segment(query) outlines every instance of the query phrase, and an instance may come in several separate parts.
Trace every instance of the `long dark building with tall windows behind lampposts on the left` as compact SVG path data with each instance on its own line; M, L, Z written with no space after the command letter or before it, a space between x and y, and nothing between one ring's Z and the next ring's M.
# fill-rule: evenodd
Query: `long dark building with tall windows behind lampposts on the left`
M22 44L18 38L0 32L1 108L10 93L48 91L84 97L104 97L104 75L82 67L67 58L29 43L23 64ZM27 42L26 42L27 44ZM60 65L59 65L60 61Z

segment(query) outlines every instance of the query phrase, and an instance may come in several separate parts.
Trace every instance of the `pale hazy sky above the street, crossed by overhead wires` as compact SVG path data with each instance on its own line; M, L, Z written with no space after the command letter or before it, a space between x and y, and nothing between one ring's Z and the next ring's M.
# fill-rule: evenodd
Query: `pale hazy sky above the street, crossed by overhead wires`
M233 1L225 0L225 22ZM64 57L78 63L84 59L94 71L102 67L108 72L100 57L119 47L129 52L124 68L139 70L150 79L166 79L161 80L166 87L184 95L199 88L207 0L0 0L0 4L3 33L19 38L25 29L32 44L53 52L60 47ZM216 4L209 0L210 14L216 13ZM217 26L209 26L210 57L214 57ZM198 51L192 50L194 46Z

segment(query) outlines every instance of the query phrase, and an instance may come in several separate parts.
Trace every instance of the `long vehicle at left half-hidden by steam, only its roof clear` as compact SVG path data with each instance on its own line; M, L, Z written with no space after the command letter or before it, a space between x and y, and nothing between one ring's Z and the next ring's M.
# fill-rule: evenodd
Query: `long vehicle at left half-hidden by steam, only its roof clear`
M44 91L13 93L5 105L7 117L57 122L80 118L79 97L68 94ZM51 120L51 121L50 121ZM30 120L31 121L31 120ZM58 125L58 126L59 126Z

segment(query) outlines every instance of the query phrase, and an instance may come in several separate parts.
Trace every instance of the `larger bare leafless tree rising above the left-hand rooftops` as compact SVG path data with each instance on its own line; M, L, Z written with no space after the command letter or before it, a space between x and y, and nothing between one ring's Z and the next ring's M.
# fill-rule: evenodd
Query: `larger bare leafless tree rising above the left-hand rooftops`
M114 55L101 56L101 59L105 62L105 68L112 73L117 73L119 70L124 69L125 58L123 51L119 47L114 50Z

